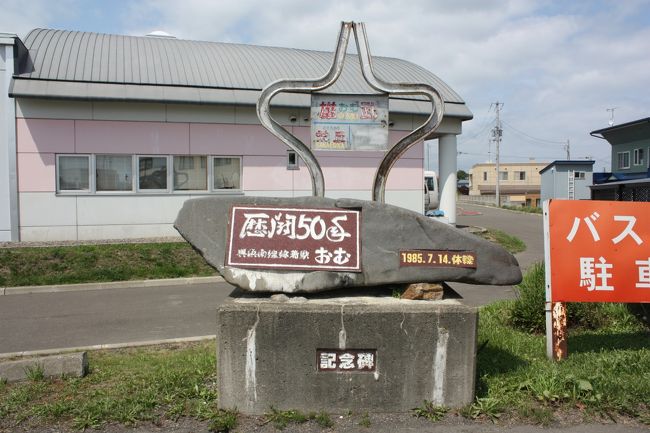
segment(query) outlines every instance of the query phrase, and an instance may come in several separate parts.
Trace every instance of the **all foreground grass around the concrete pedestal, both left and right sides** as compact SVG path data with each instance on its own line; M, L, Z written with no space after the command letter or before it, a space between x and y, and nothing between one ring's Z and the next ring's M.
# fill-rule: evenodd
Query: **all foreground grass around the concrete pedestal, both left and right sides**
M633 418L650 423L650 333L620 305L605 308L608 325L571 330L569 359L546 359L542 335L508 325L512 302L481 309L477 398L450 411L423 404L413 415L552 424ZM61 424L84 429L107 423L159 423L179 417L207 420L228 430L237 414L216 408L214 342L97 351L83 378L0 383L0 431ZM424 403L424 402L423 402ZM431 415L431 416L428 416ZM333 417L336 418L336 417ZM329 425L327 414L269 408L260 423Z

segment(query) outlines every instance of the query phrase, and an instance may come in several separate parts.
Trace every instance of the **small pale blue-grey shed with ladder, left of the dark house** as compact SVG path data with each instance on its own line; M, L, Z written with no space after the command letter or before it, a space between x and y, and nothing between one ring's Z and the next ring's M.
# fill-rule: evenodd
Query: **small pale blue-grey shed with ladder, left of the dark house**
M542 201L552 198L589 200L595 161L553 161L539 174L542 177Z

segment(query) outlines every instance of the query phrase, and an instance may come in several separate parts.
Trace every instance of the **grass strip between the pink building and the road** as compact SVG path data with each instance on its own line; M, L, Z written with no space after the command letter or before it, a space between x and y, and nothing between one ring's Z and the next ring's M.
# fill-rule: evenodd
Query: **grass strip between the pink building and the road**
M215 275L186 242L0 248L0 286Z

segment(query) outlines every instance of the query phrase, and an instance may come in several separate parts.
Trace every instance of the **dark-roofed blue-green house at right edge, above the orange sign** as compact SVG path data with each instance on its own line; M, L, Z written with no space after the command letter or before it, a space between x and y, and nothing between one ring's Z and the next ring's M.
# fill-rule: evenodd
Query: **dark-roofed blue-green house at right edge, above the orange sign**
M590 133L612 146L612 169L594 173L593 200L650 201L650 117Z

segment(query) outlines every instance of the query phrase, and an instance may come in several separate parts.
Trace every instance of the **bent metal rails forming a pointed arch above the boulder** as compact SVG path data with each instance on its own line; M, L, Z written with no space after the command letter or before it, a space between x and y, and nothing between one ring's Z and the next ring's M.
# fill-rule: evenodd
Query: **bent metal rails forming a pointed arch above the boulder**
M361 72L366 82L373 89L389 95L423 95L429 99L432 107L431 114L427 120L391 146L379 164L373 182L372 199L373 201L383 203L385 200L386 181L391 168L411 146L419 140L427 137L438 128L444 115L444 103L440 93L428 84L390 83L377 77L372 66L368 38L363 23L341 23L341 30L339 31L332 66L327 74L321 78L314 80L280 79L266 86L262 90L257 102L257 116L267 130L293 149L302 158L311 175L312 194L317 197L324 197L325 180L318 160L308 146L271 117L270 104L271 99L281 92L292 91L313 93L332 86L338 80L343 71L343 64L345 62L351 31L354 31L354 38L356 40L359 61L361 64Z

